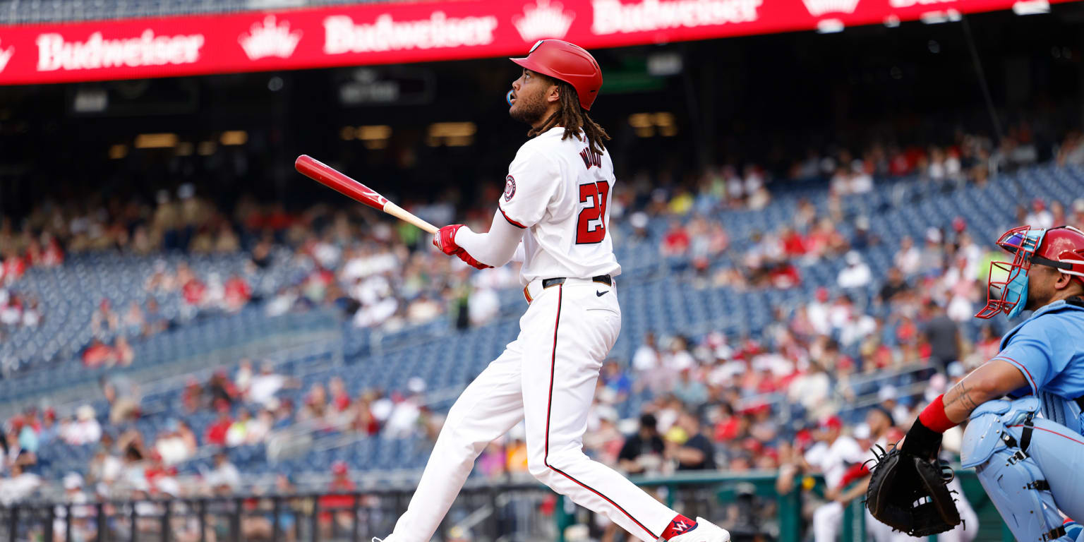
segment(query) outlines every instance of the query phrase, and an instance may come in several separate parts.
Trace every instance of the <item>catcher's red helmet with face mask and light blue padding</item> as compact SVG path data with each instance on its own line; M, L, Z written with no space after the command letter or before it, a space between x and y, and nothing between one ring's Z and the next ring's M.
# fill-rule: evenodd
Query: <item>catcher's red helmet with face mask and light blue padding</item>
M1028 272L1032 263L1049 266L1084 284L1084 232L1076 228L1059 225L1046 230L1021 225L1005 232L997 246L1012 253L1014 258L1011 262L990 263L986 306L977 318L993 318L998 312L1009 318L1019 314L1028 301Z

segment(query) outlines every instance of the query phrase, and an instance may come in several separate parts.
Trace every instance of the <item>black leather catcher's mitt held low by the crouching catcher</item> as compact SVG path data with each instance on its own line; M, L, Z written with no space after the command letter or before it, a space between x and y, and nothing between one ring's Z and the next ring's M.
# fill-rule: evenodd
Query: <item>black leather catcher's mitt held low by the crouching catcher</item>
M912 537L928 537L959 525L959 512L947 485L952 467L900 447L874 450L876 465L866 490L869 514Z

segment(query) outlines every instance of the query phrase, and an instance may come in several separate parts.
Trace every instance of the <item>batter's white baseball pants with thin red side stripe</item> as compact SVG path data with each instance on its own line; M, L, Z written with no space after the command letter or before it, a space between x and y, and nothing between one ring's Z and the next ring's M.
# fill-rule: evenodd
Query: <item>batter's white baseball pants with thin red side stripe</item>
M583 431L603 361L621 330L616 287L569 279L543 289L519 336L455 401L406 513L388 542L428 542L486 446L524 421L528 469L554 491L655 542L676 516L583 454Z

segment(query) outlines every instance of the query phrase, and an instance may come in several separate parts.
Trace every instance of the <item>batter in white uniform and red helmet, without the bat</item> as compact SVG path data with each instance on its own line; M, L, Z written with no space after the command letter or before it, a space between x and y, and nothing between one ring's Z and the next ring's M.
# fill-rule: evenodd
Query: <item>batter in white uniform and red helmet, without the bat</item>
M531 139L508 167L489 232L448 225L433 243L478 269L521 258L529 305L516 340L448 413L410 506L385 540L427 542L478 454L522 420L528 469L554 491L646 542L726 542L722 528L678 514L582 451L598 370L621 330L609 136L588 116L603 76L590 53L560 40L539 41L512 62L524 69L508 114L530 125Z

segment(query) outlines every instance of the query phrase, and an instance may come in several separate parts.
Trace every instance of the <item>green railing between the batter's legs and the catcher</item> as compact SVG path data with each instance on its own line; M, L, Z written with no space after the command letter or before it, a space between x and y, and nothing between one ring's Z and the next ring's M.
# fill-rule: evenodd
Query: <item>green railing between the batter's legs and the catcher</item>
M990 498L979 483L972 469L957 469L956 476L964 487L964 494L967 496L971 507L979 516L979 533L975 542L1012 542L1012 533L1005 526L997 509L994 508ZM748 492L750 486L753 494L761 499L774 499L778 511L779 539L778 542L799 542L802 537L802 489L800 483L796 483L796 489L789 493L780 494L776 491L775 482L778 475L774 470L759 470L741 474L730 473L688 473L672 476L659 477L633 477L634 483L643 488L666 488L662 501L673 507L681 491L691 487L710 488L715 499L721 503L736 501L739 493ZM817 496L824 495L824 480L816 477L816 485L812 490ZM565 542L565 528L572 522L572 518L564 506L564 496L559 498L557 506L557 542ZM840 529L840 542L866 542L864 504L861 499L852 501L843 512L843 521ZM975 526L966 526L973 529ZM935 542L937 537L930 537L930 542Z

